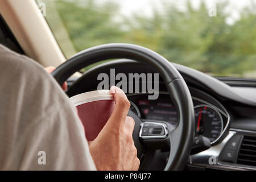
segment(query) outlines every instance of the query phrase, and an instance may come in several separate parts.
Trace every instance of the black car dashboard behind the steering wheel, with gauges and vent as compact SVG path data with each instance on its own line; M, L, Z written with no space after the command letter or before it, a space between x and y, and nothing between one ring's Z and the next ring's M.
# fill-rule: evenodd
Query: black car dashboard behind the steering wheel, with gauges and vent
M195 137L203 135L210 140L210 148L189 156L188 170L255 170L256 169L256 86L255 80L232 81L217 79L195 69L174 64L188 85L195 110ZM153 68L134 60L114 60L86 71L79 83L69 80L69 97L96 90L100 73L155 73ZM86 78L86 80L84 79ZM229 84L231 82L231 84ZM233 85L232 85L233 84ZM130 110L142 121L169 122L177 125L179 113L168 95L163 80L159 81L159 97L148 100L149 93L127 94ZM158 158L142 164L143 169L161 170L168 151L154 151ZM159 155L160 154L160 155ZM151 165L154 164L154 165ZM147 168L148 166L148 168ZM151 166L151 167L149 167Z

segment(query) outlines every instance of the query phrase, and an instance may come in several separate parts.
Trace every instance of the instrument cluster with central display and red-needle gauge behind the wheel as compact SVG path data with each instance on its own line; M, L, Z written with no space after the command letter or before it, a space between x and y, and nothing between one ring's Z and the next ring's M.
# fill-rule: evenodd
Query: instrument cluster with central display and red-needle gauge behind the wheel
M195 109L195 137L203 135L209 138L211 144L217 143L229 125L228 111L207 93L193 88L190 90ZM142 121L164 121L172 125L179 122L179 113L168 92L159 92L156 100L148 100L147 94L132 94L128 98L130 110L137 113Z

